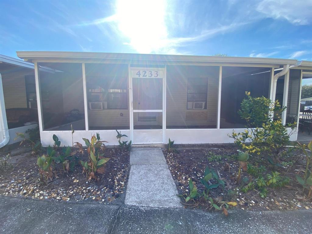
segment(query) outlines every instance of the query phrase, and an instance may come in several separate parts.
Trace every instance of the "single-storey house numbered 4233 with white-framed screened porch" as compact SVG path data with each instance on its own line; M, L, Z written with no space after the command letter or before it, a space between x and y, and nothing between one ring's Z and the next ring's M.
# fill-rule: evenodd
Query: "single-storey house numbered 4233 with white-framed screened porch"
M237 114L245 91L287 106L283 123L297 122L301 80L312 62L252 57L18 51L35 64L43 146L100 133L116 145L116 131L133 144L231 143L244 131ZM42 66L55 72L41 71ZM39 68L39 69L38 69ZM297 133L291 140L297 139Z

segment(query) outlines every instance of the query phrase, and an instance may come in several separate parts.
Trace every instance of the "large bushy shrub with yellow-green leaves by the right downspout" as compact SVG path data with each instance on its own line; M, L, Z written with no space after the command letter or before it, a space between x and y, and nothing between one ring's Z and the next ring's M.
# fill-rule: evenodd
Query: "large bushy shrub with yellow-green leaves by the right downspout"
M296 123L283 125L281 114L285 109L278 101L272 102L263 96L253 98L250 92L246 92L246 98L241 102L238 114L246 121L249 130L246 129L242 133L233 131L229 137L234 139L241 150L248 150L251 154L278 153L289 143L289 137L297 125ZM288 132L287 128L292 130Z

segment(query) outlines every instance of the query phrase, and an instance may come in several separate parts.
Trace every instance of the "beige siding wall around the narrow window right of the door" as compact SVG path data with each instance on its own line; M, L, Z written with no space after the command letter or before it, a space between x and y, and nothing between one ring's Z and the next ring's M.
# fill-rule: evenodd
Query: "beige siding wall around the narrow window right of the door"
M188 78L208 78L207 110L187 110ZM216 125L219 67L167 66L167 126ZM207 116L206 120L186 120L186 113ZM200 114L199 114L200 113ZM196 115L194 115L196 116Z

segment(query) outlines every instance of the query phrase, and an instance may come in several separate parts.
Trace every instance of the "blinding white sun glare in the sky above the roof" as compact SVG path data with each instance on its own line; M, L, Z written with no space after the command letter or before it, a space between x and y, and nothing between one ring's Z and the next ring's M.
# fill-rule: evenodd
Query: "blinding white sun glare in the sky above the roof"
M134 0L116 2L119 30L139 53L151 53L166 46L165 0Z

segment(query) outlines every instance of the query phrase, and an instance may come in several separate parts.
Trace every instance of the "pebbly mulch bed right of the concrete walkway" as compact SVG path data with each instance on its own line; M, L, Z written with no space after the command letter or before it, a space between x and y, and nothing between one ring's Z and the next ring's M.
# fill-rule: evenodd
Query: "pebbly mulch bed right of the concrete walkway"
M266 178L267 173L271 171L280 172L281 176L287 176L290 178L290 183L281 188L267 188L267 197L261 198L259 191L253 189L247 193L241 192L242 180L240 183L236 183L237 172L239 163L237 161L237 148L233 145L212 146L207 149L178 149L177 153L170 153L166 149L163 149L163 153L168 163L168 167L171 171L173 179L178 188L179 194L189 194L188 180L191 178L194 182L194 186L197 187L200 193L204 190L204 185L200 182L200 179L204 177L205 168L214 169L217 173L220 173L220 177L225 182L225 191L219 186L217 189L211 189L209 196L212 198L222 198L223 201L235 201L237 202L236 208L243 210L296 210L296 209L312 209L312 199L306 200L302 193L302 187L297 182L295 174L298 173L300 168L305 167L305 162L302 157L291 166L275 167L273 168L268 163L267 159L263 158L259 161L258 166L263 165L267 171L263 173L263 177ZM214 157L213 155L217 155ZM212 160L211 157L216 158ZM208 160L210 158L210 160ZM282 158L282 157L280 157ZM227 164L228 163L228 164ZM252 162L252 156L249 159L249 164L255 165ZM229 167L228 167L229 166ZM300 174L302 176L302 174ZM241 178L253 176L242 173ZM251 181L251 180L250 180ZM227 195L227 191L234 191L234 195ZM181 202L186 204L185 207L194 207L193 201L188 201L181 198ZM196 205L196 208L206 209L201 205Z

